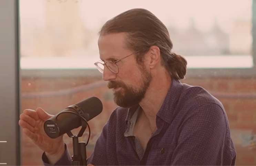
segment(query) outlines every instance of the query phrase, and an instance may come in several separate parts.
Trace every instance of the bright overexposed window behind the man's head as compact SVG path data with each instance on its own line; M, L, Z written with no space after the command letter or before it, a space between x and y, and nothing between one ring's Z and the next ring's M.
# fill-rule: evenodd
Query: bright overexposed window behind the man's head
M252 1L163 1L155 6L153 1L24 0L20 3L21 68L95 68L100 27L131 8L148 9L163 21L173 51L187 58L188 68L254 66Z

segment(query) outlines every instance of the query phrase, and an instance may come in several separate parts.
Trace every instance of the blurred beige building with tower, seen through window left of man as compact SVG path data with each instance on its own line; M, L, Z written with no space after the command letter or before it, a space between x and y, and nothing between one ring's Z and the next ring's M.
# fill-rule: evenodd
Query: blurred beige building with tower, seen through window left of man
M21 26L21 44L27 48L21 50L21 56L83 55L92 35L81 19L79 4L79 1L43 1L40 26L31 26L34 23Z

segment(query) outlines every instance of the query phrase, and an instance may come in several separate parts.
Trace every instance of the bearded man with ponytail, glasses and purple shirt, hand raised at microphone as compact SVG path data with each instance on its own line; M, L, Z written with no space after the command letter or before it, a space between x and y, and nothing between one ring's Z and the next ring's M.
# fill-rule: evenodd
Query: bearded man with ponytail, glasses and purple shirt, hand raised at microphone
M234 165L236 152L223 105L202 87L182 84L186 60L173 53L167 28L132 9L107 21L95 65L113 88L116 108L88 159L92 165ZM45 165L70 165L62 137L50 139L41 108L19 124L42 150Z

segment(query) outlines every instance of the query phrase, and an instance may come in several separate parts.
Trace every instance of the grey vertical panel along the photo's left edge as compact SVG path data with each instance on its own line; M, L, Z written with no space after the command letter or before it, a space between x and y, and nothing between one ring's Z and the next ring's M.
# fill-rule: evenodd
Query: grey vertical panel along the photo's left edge
M18 2L0 0L0 163L20 165ZM1 164L4 165L4 164Z

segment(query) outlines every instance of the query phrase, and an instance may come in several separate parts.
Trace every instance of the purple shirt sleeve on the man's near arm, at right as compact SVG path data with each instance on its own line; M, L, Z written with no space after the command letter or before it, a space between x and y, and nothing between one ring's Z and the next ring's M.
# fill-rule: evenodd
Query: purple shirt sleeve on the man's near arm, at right
M231 165L223 163L228 121L222 108L204 104L187 112L171 165Z

